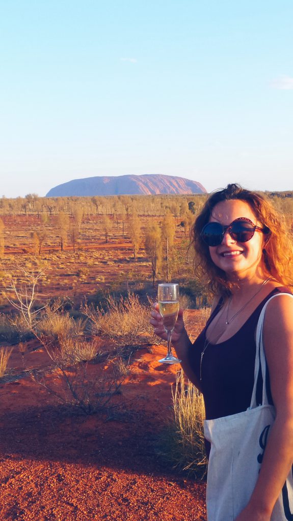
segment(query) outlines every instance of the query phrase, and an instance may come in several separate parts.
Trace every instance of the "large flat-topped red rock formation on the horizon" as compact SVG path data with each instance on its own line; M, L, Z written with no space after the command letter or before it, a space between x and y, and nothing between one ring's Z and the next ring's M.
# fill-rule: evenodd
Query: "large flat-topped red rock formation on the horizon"
M198 181L163 174L144 174L73 179L58 184L48 191L46 197L198 193L206 193L206 189Z

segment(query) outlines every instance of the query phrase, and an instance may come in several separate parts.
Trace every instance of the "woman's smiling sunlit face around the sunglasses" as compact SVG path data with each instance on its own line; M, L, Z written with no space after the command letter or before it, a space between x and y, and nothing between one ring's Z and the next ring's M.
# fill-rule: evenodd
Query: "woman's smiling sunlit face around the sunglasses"
M245 201L231 200L216 204L212 210L209 222L219 222L221 225L230 225L238 217L247 217L254 225L262 227L250 205ZM210 255L216 266L225 271L227 278L251 278L258 268L264 270L262 250L264 234L255 231L247 242L235 241L228 231L218 246L210 246Z

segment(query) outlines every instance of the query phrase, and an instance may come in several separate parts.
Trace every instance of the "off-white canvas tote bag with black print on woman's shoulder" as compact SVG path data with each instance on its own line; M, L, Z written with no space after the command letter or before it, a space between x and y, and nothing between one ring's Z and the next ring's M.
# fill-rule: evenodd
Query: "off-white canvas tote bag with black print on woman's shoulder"
M257 326L257 352L250 407L241 413L204 421L204 436L211 443L207 469L207 521L234 521L248 504L257 482L263 453L275 419L275 408L266 394L266 362L263 348L265 309ZM293 297L293 295L291 295ZM262 404L256 403L259 370L262 373ZM274 506L271 521L293 521L292 469Z

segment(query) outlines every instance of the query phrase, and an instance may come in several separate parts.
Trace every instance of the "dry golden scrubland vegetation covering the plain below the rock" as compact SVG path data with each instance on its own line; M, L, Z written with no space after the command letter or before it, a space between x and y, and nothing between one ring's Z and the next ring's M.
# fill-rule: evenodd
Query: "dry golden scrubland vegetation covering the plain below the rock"
M292 229L292 193L267 194ZM209 295L192 274L190 228L205 195L0 200L0 378L13 373L34 339L50 360L28 370L56 400L86 414L119 407L149 325L156 282L176 280L191 340L209 314ZM5 345L6 344L6 345ZM54 374L50 379L48 375ZM178 376L168 424L168 458L205 475L201 396Z

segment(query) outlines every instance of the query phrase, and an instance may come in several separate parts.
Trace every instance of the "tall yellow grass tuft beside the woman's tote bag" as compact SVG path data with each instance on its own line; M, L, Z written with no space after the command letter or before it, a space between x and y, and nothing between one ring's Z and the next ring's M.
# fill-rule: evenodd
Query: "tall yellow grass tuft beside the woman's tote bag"
M176 388L172 389L174 417L168 423L164 454L178 470L185 470L203 479L206 475L202 394L191 382L185 384L184 373L176 375Z

